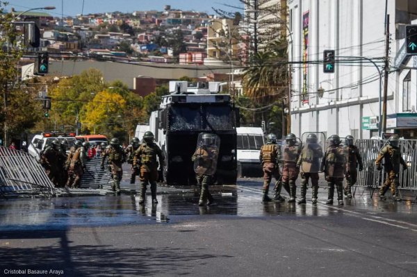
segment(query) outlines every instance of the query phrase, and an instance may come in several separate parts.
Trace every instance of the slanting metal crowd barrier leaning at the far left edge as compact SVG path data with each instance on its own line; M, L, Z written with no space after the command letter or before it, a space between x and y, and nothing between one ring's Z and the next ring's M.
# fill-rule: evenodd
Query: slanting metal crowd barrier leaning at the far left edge
M0 195L55 194L44 168L28 153L0 146Z

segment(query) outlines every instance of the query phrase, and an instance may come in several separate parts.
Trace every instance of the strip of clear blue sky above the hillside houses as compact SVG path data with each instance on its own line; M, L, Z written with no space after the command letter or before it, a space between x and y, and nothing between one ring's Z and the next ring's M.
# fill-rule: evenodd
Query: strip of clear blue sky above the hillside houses
M83 15L94 12L133 12L135 10L163 10L165 5L171 5L172 9L195 10L207 12L214 15L212 9L218 8L228 11L240 11L229 6L243 8L243 3L239 0L8 0L7 10L14 7L15 10L28 10L29 8L39 8L44 6L55 6L56 10L47 10L54 17L64 17L68 15ZM84 6L83 6L84 3Z

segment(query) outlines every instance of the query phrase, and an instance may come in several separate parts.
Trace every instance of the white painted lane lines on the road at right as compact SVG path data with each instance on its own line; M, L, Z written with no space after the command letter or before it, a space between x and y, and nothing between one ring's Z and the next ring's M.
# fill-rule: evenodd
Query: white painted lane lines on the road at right
M252 188L252 187L249 188L249 187L243 187L241 185L236 185L236 188L238 188L239 190L244 190L246 192L254 192L256 194L263 194L263 192L261 192L261 190L256 189L256 188ZM320 206L326 207L326 208L332 208L334 210L341 210L343 212L346 212L347 214L351 214L352 216L360 217L363 220L373 221L373 222L377 222L379 224L385 224L385 225L393 226L393 227L396 227L396 228L412 230L414 232L417 232L417 230L414 229L414 228L417 227L417 224L412 224L412 223L409 223L407 221L389 219L389 218L385 218L385 217L377 217L377 216L374 216L374 215L366 215L366 217L364 217L362 212L355 212L355 211L352 211L352 210L346 210L344 208L339 208L339 207L335 207L333 205L327 205L327 204L323 204L323 203L317 203L317 205L320 205ZM397 224L389 223L389 222L386 222L386 221L395 222ZM402 224L402 225L406 225L406 226L410 226L410 227L414 227L414 228L409 228L409 227L401 226L401 225L398 225L398 224Z

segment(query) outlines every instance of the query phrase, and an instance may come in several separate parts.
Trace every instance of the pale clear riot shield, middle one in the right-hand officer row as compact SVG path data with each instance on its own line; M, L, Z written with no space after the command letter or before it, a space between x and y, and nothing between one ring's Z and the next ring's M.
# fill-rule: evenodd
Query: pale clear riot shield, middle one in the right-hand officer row
M321 132L306 132L301 136L300 171L318 173L326 149L326 136Z

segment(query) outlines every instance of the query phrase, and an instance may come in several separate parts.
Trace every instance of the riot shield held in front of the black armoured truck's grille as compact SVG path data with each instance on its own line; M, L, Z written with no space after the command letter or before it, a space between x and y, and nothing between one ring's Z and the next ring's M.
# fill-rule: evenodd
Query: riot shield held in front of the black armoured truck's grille
M199 133L193 155L196 174L214 175L220 150L220 137L211 133Z

